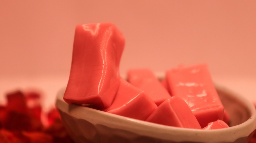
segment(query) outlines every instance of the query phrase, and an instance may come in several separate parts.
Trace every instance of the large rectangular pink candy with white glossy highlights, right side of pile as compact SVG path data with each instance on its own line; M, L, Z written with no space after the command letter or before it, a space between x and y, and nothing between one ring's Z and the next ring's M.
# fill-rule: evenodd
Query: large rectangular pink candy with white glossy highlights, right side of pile
M171 95L188 104L202 128L209 122L223 120L224 107L206 64L168 70L166 79Z

